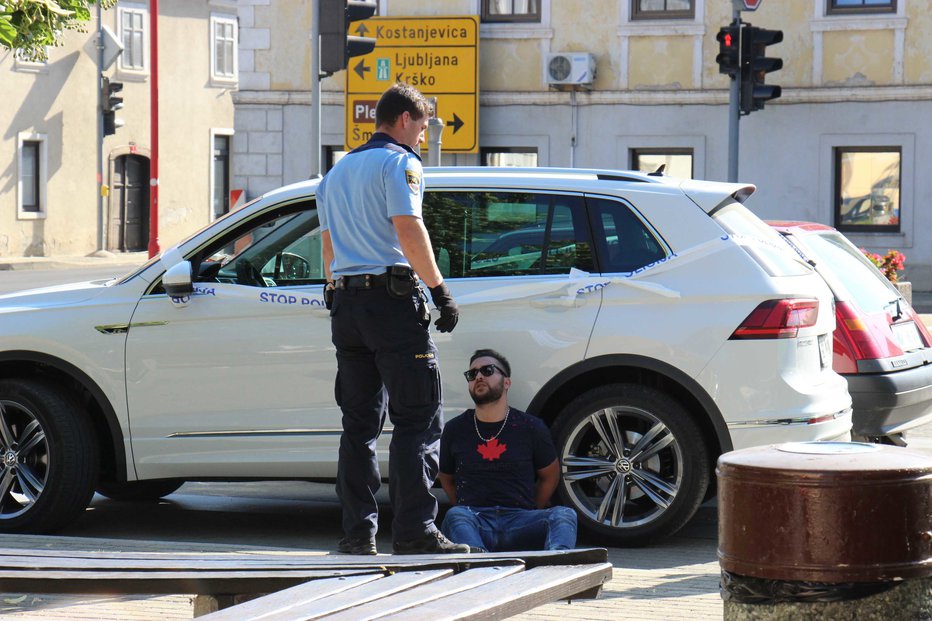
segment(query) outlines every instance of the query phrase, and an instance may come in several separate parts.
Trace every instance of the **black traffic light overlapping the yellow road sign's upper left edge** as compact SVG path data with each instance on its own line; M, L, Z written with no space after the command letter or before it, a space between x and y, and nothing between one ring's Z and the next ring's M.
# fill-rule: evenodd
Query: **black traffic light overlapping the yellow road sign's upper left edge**
M353 56L362 56L375 49L375 39L365 36L365 25L350 35L353 22L369 19L378 8L377 2L357 0L320 0L320 70L330 75L346 69Z

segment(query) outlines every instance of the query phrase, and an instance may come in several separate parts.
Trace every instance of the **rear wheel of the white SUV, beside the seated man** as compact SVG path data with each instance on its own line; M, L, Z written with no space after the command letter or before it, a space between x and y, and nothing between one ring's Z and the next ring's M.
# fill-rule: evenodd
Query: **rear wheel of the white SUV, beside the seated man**
M682 528L709 486L708 449L689 412L638 384L583 393L554 427L560 499L579 526L619 545L646 545Z

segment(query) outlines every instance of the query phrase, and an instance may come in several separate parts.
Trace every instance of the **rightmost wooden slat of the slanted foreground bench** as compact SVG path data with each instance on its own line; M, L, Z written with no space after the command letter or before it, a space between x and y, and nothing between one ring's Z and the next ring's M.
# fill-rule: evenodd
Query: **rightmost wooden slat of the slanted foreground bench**
M478 621L504 619L603 584L612 575L610 563L536 567L493 584L485 584L428 604L378 617L380 621Z

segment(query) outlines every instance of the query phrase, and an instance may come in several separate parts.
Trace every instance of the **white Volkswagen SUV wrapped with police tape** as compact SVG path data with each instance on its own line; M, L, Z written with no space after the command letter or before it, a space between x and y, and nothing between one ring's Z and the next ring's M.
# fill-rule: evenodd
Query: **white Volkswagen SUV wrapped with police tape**
M510 402L552 428L559 496L584 528L655 540L711 494L721 453L848 437L832 294L742 205L754 186L426 177L424 220L461 309L434 334L446 415L471 405L473 350L508 356ZM94 490L335 476L316 186L271 192L121 279L0 297L0 531L61 527Z

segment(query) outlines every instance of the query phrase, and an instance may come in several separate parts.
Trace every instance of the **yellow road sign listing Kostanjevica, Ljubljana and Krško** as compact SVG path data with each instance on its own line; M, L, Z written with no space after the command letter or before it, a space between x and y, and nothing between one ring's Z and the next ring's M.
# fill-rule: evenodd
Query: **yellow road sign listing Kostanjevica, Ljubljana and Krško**
M443 151L479 150L479 19L374 17L351 34L375 37L375 49L350 59L346 69L346 148L375 131L375 104L386 88L406 82L437 98L444 120ZM426 148L426 145L421 147Z

